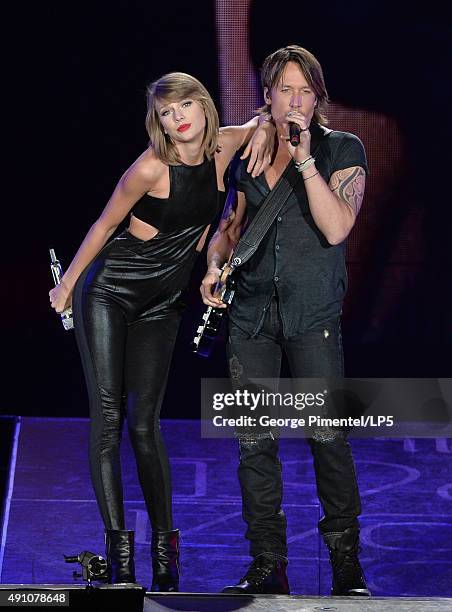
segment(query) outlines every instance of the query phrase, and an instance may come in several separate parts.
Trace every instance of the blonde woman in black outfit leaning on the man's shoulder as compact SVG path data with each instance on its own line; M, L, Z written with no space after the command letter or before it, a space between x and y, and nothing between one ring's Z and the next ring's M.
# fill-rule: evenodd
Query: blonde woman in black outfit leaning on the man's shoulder
M49 293L73 302L90 398L90 468L105 526L109 580L134 582L125 529L119 445L124 415L152 527L154 591L179 588L179 531L159 413L181 314L180 297L210 224L224 205L223 176L258 119L219 129L212 98L194 77L170 73L147 92L150 146L125 172L99 219ZM261 173L274 130L259 128L250 170ZM259 142L261 144L259 144ZM130 214L128 229L108 242ZM73 295L73 300L72 300Z

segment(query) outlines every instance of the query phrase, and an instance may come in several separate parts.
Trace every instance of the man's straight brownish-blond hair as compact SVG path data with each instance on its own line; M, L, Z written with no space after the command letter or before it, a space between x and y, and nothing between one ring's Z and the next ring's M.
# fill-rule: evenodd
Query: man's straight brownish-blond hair
M328 123L326 117L328 92L323 78L323 71L318 59L307 49L298 45L288 45L267 56L261 68L262 87L267 88L270 95L273 87L276 87L279 83L284 69L289 62L297 64L316 95L317 104L314 109L314 121L320 125L326 125ZM270 109L271 105L265 104L258 109L258 112L261 114L270 113Z

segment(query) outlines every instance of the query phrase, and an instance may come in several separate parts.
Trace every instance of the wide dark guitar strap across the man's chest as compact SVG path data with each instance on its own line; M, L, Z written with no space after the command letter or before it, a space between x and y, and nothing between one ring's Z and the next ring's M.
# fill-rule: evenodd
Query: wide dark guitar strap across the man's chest
M243 265L254 255L299 180L300 173L297 171L295 164L290 161L238 241L231 258L232 268Z

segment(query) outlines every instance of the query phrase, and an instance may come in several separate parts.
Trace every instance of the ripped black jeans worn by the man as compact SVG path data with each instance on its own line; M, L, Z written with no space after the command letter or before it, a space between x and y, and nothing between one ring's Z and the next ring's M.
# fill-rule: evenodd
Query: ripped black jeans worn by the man
M285 352L294 378L343 376L340 322L290 339L282 335L278 301L274 297L259 334L250 338L230 322L228 359L237 386L249 378L278 378ZM319 430L309 439L314 458L317 494L324 516L323 533L358 526L361 502L355 466L346 435L340 430ZM250 554L262 552L287 556L286 519L281 508L283 485L278 440L270 433L239 436L238 475L242 491L243 518Z

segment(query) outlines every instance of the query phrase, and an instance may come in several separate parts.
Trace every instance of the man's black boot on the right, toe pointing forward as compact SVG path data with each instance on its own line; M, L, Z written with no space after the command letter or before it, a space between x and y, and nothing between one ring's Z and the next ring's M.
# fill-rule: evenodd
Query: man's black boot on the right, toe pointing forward
M359 563L359 529L350 527L338 533L324 533L333 568L331 595L370 597L364 572Z

